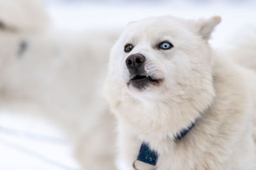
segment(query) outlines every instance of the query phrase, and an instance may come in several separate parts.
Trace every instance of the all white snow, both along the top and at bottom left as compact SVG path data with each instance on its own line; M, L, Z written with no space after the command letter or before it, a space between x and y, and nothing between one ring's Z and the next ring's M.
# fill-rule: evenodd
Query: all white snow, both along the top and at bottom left
M214 48L236 41L232 36L256 30L256 1L44 1L54 31L125 27L157 15L184 18L220 15L210 43ZM231 39L231 40L228 40ZM46 120L0 111L0 169L79 169L72 146Z

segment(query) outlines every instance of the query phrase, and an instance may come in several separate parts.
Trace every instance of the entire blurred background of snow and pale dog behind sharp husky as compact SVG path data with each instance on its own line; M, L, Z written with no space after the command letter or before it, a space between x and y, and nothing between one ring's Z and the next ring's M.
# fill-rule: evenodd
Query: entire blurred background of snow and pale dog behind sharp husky
M115 118L102 94L125 25L220 15L212 48L256 29L253 0L0 0L0 169L115 169Z

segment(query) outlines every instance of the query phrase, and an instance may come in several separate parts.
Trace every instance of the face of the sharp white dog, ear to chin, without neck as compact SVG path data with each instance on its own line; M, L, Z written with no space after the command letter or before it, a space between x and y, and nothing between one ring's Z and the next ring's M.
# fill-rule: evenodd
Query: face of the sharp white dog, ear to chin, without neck
M211 20L214 23L209 31L220 18ZM131 94L137 95L182 86L196 76L194 71L200 73L211 67L206 42L211 32L200 34L205 26L200 22L209 21L166 16L129 24L113 47L110 65L113 76L122 80Z

